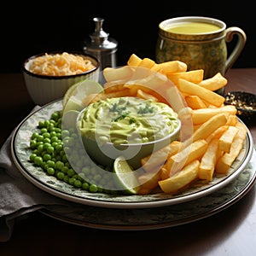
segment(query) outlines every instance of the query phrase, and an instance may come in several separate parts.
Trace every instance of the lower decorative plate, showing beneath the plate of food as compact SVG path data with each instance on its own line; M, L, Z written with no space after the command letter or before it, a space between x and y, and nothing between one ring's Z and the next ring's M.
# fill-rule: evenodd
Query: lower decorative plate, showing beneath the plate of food
M223 211L247 195L255 180L254 150L251 161L236 179L211 195L194 201L145 209L109 209L71 203L71 207L48 207L40 212L70 224L102 230L155 230L188 224Z

